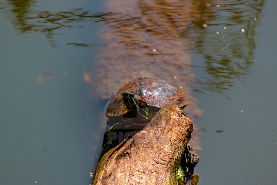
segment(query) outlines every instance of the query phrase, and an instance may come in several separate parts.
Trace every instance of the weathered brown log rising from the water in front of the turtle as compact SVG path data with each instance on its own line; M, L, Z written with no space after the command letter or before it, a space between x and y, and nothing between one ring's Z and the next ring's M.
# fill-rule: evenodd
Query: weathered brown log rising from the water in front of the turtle
M183 111L166 104L145 128L102 156L92 184L177 184L192 131Z

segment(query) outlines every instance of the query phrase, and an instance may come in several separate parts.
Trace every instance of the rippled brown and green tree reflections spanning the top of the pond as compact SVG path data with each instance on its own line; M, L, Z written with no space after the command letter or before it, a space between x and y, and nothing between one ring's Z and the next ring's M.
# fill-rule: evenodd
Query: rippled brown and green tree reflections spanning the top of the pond
M264 6L264 0L256 1L137 1L137 14L122 12L92 13L79 8L71 11L35 11L36 1L9 0L2 11L12 12L9 16L20 33L43 32L52 46L56 46L54 35L60 28L70 27L76 21L103 21L117 30L125 49L145 50L152 47L147 42L132 38L132 31L148 32L165 39L181 40L183 49L203 55L205 65L198 67L206 71L195 79L185 70L185 78L197 81L193 89L207 93L225 93L237 87L237 80L244 83L251 73L255 28ZM134 16L137 15L137 16ZM167 26L169 25L169 26ZM125 30L120 29L124 27ZM137 38L135 38L137 39ZM72 43L76 46L91 46L91 43ZM128 51L128 52L129 52ZM144 52L146 53L146 52ZM149 55L157 55L148 52ZM161 54L161 53L160 53ZM162 53L172 54L172 53ZM126 65L126 64L123 64ZM148 65L148 64L145 64ZM153 63L155 65L155 62ZM166 64L190 66L190 64L168 61Z

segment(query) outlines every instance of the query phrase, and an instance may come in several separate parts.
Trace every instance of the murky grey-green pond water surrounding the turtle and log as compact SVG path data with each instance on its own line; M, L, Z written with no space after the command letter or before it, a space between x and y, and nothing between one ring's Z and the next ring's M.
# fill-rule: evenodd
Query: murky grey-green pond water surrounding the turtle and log
M275 184L275 7L1 1L0 184L89 184L107 102L141 75L188 95L198 184Z

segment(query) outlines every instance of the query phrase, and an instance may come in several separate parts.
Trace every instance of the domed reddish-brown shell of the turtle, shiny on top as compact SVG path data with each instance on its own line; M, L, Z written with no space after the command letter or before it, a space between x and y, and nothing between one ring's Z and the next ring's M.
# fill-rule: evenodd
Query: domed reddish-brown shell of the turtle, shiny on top
M128 113L126 105L123 103L123 92L142 96L148 106L161 108L167 103L173 103L176 107L188 102L188 98L181 90L176 89L168 82L153 77L140 77L126 83L112 97L106 110L107 117L120 116ZM130 111L129 111L130 114Z

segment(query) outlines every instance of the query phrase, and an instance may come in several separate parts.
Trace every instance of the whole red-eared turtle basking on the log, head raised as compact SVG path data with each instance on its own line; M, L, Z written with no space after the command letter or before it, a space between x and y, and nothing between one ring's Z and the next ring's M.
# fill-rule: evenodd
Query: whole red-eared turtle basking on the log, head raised
M119 129L141 129L166 103L173 103L182 110L188 103L184 92L168 82L152 77L140 77L125 84L111 99L106 116L114 125L104 134L103 147L110 149L121 141L115 134ZM113 133L113 134L110 134ZM126 139L129 135L123 137Z

